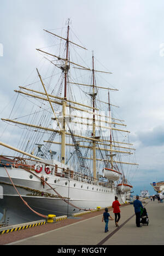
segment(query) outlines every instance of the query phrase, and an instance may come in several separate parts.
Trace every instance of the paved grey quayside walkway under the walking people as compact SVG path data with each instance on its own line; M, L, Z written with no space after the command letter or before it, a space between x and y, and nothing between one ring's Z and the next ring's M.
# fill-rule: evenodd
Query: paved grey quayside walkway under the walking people
M145 208L149 226L142 228L136 228L133 205L128 205L121 207L119 228L110 220L107 233L104 233L101 213L9 245L164 245L164 203L149 201ZM109 213L114 218L114 213Z

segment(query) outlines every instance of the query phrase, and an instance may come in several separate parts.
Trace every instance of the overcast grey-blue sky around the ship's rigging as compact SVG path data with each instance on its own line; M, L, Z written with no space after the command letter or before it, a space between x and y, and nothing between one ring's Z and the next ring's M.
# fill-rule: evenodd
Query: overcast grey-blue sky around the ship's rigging
M164 2L163 0L0 0L0 117L11 111L13 90L37 67L43 29L65 26L113 72L109 83L119 115L126 120L139 163L134 192L163 181ZM1 121L0 137L4 126ZM14 146L14 145L13 145Z

